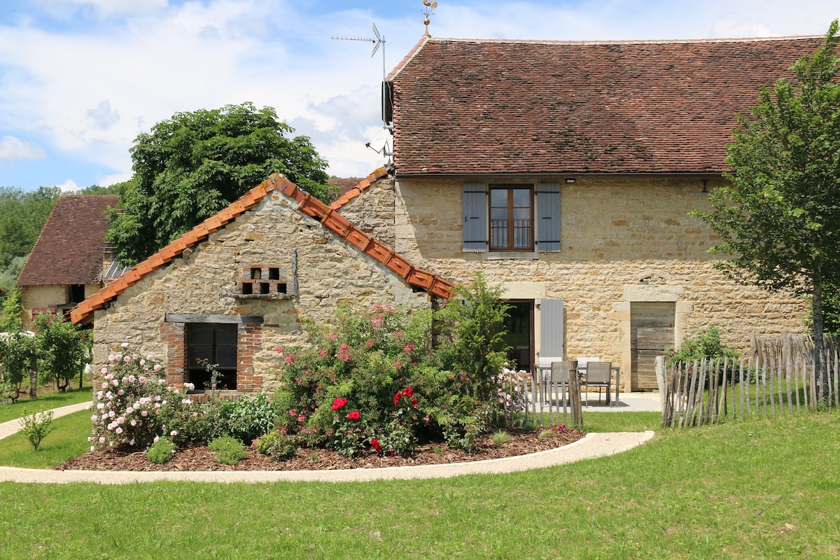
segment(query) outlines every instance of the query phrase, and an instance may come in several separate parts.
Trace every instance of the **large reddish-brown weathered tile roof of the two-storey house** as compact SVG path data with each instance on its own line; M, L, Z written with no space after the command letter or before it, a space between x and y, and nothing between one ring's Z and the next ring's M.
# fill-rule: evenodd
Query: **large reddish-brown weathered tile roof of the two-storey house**
M398 175L720 173L736 114L822 37L424 37L396 67Z

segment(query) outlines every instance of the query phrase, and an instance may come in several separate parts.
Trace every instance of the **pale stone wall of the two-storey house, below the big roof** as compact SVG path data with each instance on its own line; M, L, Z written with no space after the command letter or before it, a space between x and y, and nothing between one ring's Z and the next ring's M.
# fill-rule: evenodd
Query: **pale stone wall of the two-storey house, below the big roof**
M505 184L538 180L505 179ZM576 178L560 192L558 253L463 253L462 181L396 185L396 250L454 283L476 270L512 298L564 302L566 358L600 356L630 371L630 308L673 301L675 344L717 326L746 350L752 332L801 332L806 301L737 285L713 268L711 228L688 212L708 209L713 182ZM539 311L536 311L538 315ZM539 317L536 320L539 331ZM536 332L536 351L543 333Z

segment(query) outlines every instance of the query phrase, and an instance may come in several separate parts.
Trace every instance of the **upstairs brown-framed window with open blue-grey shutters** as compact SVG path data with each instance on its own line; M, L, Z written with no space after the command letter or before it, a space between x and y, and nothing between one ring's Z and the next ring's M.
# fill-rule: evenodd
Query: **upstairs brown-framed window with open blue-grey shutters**
M465 252L560 250L558 183L465 183L463 209Z

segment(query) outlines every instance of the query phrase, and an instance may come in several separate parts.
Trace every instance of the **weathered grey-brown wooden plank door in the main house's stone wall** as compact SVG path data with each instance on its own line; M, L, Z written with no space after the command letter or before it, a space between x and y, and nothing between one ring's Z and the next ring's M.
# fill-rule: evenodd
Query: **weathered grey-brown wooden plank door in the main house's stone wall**
M674 346L674 312L669 301L630 304L631 390L657 389L654 359Z

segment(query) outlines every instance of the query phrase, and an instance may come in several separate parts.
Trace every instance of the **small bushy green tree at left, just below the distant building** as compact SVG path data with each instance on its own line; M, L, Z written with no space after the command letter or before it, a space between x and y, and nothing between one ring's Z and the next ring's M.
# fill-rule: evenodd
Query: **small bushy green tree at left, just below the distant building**
M90 356L90 344L71 322L40 313L35 317L35 343L38 348L39 379L42 384L55 381L61 392L76 375L81 375Z

